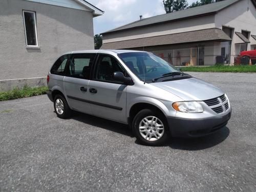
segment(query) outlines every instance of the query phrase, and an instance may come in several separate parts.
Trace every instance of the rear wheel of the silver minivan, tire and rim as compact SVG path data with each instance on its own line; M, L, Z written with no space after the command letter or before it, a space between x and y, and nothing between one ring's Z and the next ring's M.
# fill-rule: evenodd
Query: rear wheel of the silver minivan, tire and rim
M57 117L61 119L66 119L71 115L71 109L66 101L66 99L62 95L56 95L54 98L54 110L57 114Z

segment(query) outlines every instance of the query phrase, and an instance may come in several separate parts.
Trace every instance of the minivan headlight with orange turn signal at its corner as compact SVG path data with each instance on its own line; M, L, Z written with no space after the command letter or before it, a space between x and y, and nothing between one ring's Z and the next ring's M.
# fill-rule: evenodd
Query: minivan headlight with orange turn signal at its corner
M184 101L173 103L173 108L182 113L202 113L203 107L197 101Z

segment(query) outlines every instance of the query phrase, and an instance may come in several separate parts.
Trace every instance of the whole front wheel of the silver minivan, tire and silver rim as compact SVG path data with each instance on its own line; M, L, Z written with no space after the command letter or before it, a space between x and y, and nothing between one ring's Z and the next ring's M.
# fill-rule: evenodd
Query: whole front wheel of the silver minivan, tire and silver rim
M169 135L166 118L150 109L141 110L134 117L132 129L140 143L151 146L164 144Z

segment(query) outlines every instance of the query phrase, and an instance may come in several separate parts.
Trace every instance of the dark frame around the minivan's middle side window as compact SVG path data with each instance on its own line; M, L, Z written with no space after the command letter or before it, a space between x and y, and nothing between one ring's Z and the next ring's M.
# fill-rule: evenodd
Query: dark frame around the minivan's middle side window
M94 58L93 58L93 61L92 61L92 64L91 64L91 67L89 65L89 67L90 67L90 73L89 74L90 75L89 75L88 78L74 77L74 76L70 75L70 68L69 68L70 67L70 60L72 60L75 55L82 55L82 54L85 54L85 55L87 55L87 54L95 54ZM97 53L73 53L73 54L70 54L70 57L67 60L67 64L66 64L66 68L65 68L65 76L71 77L71 78L76 78L76 79L91 80L91 78L92 78L92 71L94 70L94 65L95 65L96 59L97 59Z

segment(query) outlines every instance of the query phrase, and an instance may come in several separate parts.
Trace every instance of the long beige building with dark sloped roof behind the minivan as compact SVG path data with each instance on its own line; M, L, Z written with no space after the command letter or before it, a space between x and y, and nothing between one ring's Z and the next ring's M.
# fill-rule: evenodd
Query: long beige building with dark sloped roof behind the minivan
M101 49L151 51L176 66L233 63L256 49L256 1L225 0L140 19L102 33Z

